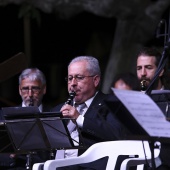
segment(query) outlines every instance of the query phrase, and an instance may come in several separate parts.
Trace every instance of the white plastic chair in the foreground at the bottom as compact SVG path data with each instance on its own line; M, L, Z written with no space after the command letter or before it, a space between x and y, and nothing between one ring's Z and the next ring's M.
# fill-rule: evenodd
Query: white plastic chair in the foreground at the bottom
M106 170L114 170L119 155L130 155L132 157L137 155L138 158L133 159L134 161L136 159L138 163L133 163L133 166L146 163L145 159L151 160L150 147L147 141L108 141L92 145L82 155L78 157L48 160L44 164L34 164L32 170L42 170L42 166L44 166L43 170L56 170L57 167L89 163L106 156L108 156ZM139 162L139 159L141 159L141 163ZM125 162L123 166L121 166L120 170L126 170Z

